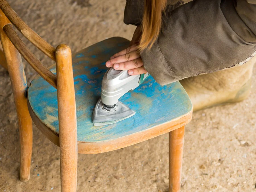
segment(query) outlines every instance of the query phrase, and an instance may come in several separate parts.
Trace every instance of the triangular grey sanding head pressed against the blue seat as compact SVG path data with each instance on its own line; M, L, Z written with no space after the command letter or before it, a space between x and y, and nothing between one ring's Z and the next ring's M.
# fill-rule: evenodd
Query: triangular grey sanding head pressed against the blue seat
M120 101L114 106L106 106L99 99L93 110L92 123L94 126L109 125L133 115L135 115L135 112Z

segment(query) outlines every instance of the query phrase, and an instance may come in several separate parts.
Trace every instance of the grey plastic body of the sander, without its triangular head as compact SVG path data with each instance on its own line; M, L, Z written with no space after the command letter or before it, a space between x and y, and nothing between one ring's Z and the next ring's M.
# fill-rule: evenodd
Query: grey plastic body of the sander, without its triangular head
M139 86L140 75L129 75L128 71L108 69L102 79L101 101L105 105L114 105L129 90Z

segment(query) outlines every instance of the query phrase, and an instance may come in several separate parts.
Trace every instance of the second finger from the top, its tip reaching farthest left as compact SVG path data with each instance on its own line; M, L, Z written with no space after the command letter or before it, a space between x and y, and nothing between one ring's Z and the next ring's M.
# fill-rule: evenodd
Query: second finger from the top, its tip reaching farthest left
M115 63L124 63L127 61L132 61L134 59L140 58L141 55L137 53L137 51L132 51L130 53L126 53L125 55L121 55L119 57L115 57L113 59L110 59L109 61L106 62L107 67L113 67Z

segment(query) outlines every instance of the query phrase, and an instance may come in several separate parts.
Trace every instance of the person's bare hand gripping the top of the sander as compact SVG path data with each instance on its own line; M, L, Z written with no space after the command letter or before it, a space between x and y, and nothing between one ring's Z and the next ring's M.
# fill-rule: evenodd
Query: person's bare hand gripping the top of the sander
M130 46L110 57L110 60L106 62L106 66L113 67L115 70L128 70L129 75L147 73L137 48L140 38L141 26L138 26L133 34Z

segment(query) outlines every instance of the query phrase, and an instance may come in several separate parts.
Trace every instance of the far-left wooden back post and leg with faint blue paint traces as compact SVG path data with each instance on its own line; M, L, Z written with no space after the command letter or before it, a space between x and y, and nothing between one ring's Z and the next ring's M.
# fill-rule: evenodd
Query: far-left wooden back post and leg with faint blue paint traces
M0 38L13 88L20 133L20 180L28 181L32 155L32 119L26 99L28 86L20 54L2 30L6 24L10 22L0 10Z

